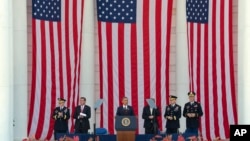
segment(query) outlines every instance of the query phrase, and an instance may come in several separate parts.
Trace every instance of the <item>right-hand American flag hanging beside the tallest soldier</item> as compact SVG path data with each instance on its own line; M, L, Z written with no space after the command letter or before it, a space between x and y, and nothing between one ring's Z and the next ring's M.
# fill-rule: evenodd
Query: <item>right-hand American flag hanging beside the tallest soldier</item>
M233 0L186 0L190 89L204 115L204 138L229 138L237 123L233 55Z

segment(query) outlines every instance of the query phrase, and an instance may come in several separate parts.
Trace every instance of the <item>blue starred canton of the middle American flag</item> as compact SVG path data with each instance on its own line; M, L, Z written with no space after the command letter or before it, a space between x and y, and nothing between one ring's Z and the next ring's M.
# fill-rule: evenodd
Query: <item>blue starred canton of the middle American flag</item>
M97 0L98 20L104 22L136 22L136 0Z

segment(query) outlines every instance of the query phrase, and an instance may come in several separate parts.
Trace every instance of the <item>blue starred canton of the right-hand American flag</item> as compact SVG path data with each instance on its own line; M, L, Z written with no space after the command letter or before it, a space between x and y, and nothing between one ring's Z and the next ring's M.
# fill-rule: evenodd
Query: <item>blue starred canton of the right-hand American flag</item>
M187 0L186 16L188 22L207 23L208 22L209 0Z

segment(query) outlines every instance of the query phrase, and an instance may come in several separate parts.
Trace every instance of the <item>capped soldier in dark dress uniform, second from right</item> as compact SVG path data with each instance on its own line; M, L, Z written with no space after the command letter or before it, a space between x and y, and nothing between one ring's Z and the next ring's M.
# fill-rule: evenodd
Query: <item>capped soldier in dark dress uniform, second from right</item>
M166 118L166 134L176 134L180 128L181 106L176 104L177 96L169 96L169 105L166 106L164 118Z

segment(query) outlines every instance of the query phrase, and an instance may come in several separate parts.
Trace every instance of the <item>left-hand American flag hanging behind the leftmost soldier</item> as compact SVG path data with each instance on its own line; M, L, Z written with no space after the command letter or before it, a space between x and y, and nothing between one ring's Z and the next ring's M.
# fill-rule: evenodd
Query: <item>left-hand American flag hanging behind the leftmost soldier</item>
M57 98L78 104L83 0L32 1L32 82L28 134L50 139ZM69 130L73 129L69 120Z

